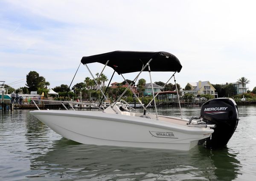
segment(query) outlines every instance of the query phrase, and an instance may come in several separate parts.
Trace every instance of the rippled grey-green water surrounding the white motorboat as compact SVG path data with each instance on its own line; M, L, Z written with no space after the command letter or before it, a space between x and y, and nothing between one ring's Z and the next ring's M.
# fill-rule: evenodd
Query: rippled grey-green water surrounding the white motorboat
M199 115L183 108L183 117ZM163 108L179 116L179 109ZM251 181L256 176L256 106L240 106L241 121L226 148L189 151L78 144L53 132L29 110L0 113L3 181Z

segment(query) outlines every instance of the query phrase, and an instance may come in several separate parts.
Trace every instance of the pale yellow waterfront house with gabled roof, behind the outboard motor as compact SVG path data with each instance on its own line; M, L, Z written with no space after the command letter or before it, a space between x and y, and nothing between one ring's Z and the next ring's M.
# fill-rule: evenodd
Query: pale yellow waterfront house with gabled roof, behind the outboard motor
M186 86L189 86L190 90L181 91L182 95L186 93L193 94L195 96L210 94L214 95L215 98L218 98L218 93L215 92L216 89L212 86L212 84L209 81L189 82L187 83Z

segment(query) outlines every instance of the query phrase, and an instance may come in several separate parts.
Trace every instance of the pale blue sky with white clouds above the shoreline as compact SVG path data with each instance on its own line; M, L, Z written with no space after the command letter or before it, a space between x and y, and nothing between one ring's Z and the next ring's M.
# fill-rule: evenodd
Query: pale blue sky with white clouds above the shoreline
M18 89L36 71L54 88L70 85L83 56L164 51L183 66L175 76L182 88L246 77L252 90L255 7L254 0L0 0L0 80ZM104 67L88 66L94 75ZM113 70L103 73L110 79ZM152 72L152 81L166 82L171 75ZM81 65L71 87L86 77L90 73ZM150 82L148 72L140 78ZM111 83L122 81L115 75Z

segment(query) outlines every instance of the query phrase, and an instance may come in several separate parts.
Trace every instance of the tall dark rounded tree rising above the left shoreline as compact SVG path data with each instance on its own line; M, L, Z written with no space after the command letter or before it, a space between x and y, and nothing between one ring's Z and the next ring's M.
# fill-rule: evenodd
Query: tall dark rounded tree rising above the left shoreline
M44 88L45 78L39 76L38 72L30 71L26 75L26 86L28 86L29 92L37 91L38 88Z

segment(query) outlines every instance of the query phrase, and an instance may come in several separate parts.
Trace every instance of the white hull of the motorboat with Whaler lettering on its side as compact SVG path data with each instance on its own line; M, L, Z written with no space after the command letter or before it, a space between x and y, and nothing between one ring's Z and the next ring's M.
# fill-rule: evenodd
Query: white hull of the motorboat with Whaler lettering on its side
M31 111L63 137L82 144L189 150L213 132L154 119L96 111Z

